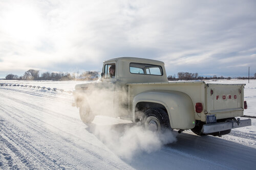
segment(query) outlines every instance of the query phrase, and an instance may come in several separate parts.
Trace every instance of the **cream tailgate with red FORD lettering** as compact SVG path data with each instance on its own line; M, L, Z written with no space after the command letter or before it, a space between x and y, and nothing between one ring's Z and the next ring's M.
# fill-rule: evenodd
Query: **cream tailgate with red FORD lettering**
M239 111L240 116L242 116L244 107L244 86L245 84L207 84L207 112L217 114Z

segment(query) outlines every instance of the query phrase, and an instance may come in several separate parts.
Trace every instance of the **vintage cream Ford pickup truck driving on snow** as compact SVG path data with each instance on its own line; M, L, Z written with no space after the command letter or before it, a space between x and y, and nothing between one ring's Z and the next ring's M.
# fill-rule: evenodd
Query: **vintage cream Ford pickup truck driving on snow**
M244 86L169 82L163 62L120 57L103 62L98 81L75 86L73 106L79 108L83 123L99 114L132 120L157 132L191 129L197 135L221 136L251 125L251 119L236 118L247 109Z

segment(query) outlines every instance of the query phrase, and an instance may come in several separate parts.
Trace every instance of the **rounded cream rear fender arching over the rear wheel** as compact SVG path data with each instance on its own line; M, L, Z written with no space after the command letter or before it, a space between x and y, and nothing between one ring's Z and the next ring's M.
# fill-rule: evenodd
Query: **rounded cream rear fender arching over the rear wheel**
M193 102L189 96L179 91L145 91L137 94L133 100L133 118L139 102L152 102L163 105L168 113L173 129L192 129L195 127Z

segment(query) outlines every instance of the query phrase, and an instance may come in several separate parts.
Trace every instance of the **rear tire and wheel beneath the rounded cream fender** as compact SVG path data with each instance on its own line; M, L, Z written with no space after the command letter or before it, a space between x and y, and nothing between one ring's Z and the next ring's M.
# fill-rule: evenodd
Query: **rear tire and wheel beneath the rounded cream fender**
M146 130L153 132L171 129L168 114L161 108L149 108L145 111L144 126Z

